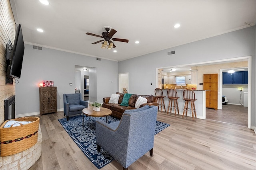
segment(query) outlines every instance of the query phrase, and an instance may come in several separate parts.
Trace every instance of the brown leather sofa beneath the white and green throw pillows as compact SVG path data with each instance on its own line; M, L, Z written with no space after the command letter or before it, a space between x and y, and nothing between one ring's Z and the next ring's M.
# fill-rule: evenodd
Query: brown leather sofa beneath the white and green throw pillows
M106 107L106 108L112 110L111 116L114 116L118 119L121 119L124 111L129 110L129 109L136 109L135 104L136 104L137 99L140 96L143 97L143 98L146 98L148 100L148 103L142 104L142 105L140 105L140 107L143 107L145 105L157 106L157 97L155 97L152 94L150 94L150 95L132 94L131 98L129 99L129 106L120 106L120 104L122 103L122 99L124 97L124 94L119 93L119 92L116 92L116 94L120 94L118 104L108 103L109 100L110 100L110 97L107 97L107 98L103 98L103 104L102 104L101 107Z

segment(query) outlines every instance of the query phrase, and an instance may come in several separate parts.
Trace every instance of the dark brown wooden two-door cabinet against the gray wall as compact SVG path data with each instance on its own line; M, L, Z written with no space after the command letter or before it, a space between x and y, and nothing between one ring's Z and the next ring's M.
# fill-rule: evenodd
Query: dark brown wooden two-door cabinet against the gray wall
M40 115L57 112L57 87L40 87Z

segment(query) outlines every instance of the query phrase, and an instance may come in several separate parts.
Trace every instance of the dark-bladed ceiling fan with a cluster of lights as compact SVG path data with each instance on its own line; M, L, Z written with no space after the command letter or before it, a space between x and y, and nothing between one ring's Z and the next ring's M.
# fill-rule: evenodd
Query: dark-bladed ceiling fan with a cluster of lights
M86 33L87 35L92 35L92 36L95 36L95 37L100 37L100 38L104 38L100 41L96 41L92 44L97 44L97 43L100 43L102 41L102 49L112 49L112 48L115 48L116 45L114 45L114 41L120 41L120 42L124 42L124 43L128 43L128 39L120 39L120 38L112 38L113 35L117 32L116 30L114 30L113 28L111 27L108 27L108 26L105 26L103 27L103 30L106 30L104 32L102 32L102 36L101 35L96 35L96 34L93 34L93 33ZM110 30L110 31L109 31ZM108 44L107 44L108 42Z

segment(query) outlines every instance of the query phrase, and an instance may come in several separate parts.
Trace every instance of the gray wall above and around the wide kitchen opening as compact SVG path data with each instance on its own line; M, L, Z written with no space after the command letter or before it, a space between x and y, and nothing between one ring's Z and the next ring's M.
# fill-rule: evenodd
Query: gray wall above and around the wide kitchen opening
M129 93L154 94L156 68L252 56L252 126L255 126L255 32L255 26L248 27L121 61L119 62L118 73L129 72ZM172 41L171 38L170 41ZM169 51L175 51L175 55L167 56ZM152 86L150 82L153 83Z

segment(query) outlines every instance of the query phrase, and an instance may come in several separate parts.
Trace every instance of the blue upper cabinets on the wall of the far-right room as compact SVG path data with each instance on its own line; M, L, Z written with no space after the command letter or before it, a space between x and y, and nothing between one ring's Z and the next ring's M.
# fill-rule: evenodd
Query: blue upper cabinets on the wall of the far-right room
M238 71L232 74L222 73L223 84L248 84L248 71Z

